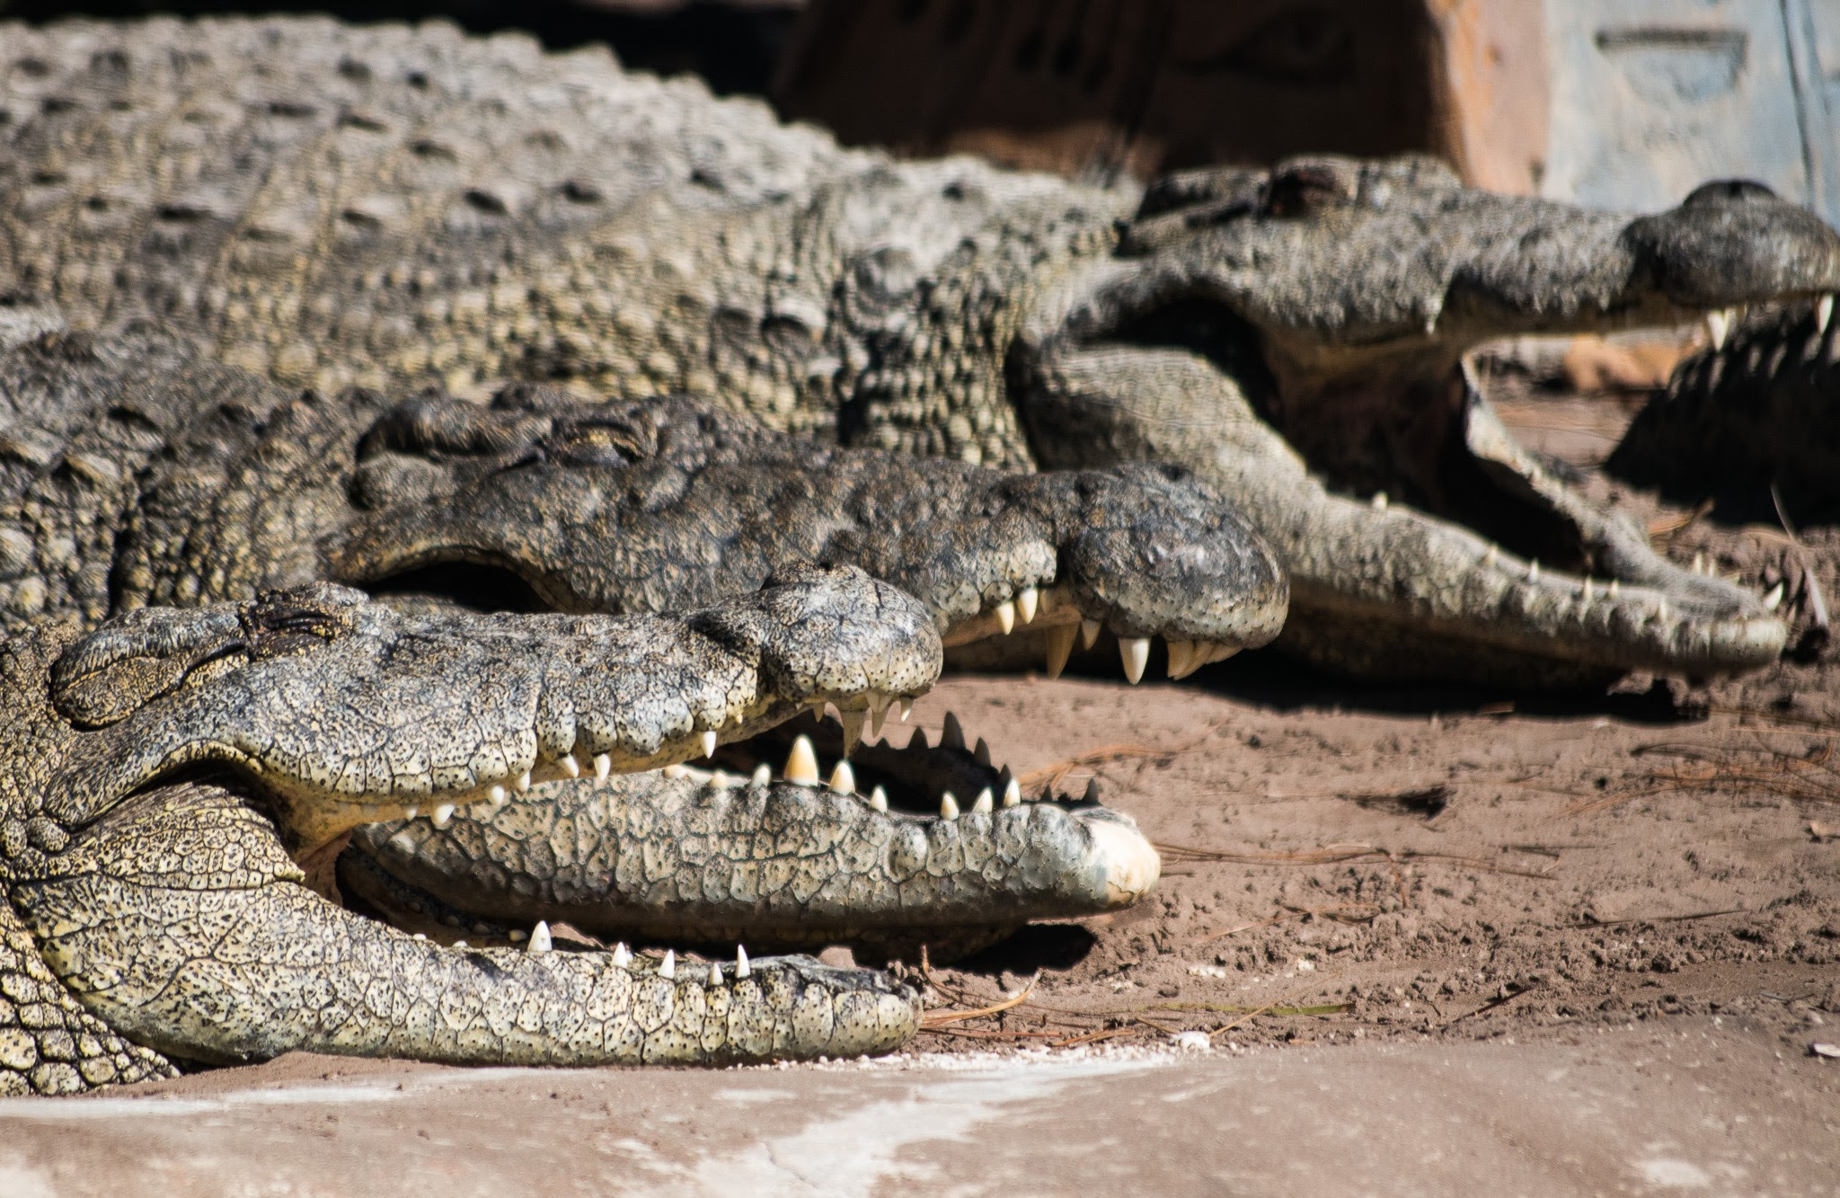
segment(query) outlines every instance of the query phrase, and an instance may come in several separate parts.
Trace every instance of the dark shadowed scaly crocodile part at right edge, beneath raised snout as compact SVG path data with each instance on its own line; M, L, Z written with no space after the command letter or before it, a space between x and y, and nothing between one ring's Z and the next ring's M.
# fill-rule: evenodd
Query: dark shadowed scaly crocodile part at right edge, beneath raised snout
M1604 467L1685 504L1731 499L1765 513L1777 506L1766 519L1840 517L1833 302L1720 315Z

